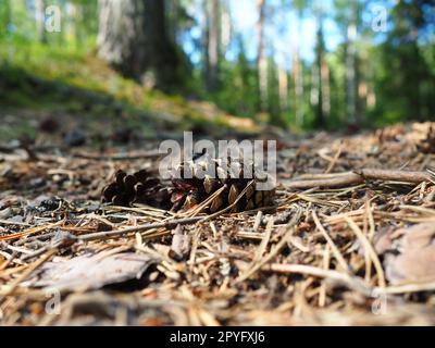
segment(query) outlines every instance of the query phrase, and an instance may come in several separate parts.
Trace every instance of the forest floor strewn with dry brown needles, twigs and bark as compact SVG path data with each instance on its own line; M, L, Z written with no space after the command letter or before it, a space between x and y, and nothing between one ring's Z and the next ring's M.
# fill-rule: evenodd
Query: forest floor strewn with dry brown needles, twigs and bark
M275 206L210 220L101 204L160 139L96 148L49 121L0 149L0 324L435 324L431 124L259 134L278 141Z

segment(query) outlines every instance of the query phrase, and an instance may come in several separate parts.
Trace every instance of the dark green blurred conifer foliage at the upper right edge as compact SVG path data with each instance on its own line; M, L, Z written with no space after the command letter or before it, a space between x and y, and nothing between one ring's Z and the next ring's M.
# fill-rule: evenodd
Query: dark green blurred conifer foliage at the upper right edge
M391 12L393 28L377 48L376 114L386 120L427 120L435 116L435 74L424 51L435 52L432 1L398 1ZM432 45L427 42L431 40ZM431 54L427 54L431 57ZM432 63L432 66L431 66Z

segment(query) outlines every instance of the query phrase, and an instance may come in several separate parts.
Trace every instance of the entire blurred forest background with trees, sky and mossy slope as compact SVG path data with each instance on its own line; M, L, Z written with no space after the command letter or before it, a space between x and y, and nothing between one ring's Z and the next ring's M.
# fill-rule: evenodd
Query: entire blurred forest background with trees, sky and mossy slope
M0 105L295 132L434 120L434 33L431 0L0 0Z

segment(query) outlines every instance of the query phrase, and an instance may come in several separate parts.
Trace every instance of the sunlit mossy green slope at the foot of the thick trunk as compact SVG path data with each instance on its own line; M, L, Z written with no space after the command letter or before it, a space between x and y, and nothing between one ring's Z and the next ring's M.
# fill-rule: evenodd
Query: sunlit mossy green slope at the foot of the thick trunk
M110 119L142 133L257 128L251 120L229 115L210 102L148 89L121 76L92 51L35 44L0 45L0 107L44 115L67 113L80 122Z

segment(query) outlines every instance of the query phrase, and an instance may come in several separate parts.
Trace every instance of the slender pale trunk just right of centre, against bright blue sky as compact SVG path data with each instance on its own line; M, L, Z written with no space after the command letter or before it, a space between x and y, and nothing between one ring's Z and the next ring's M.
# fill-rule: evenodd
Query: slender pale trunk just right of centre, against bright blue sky
M265 0L257 0L257 70L258 70L258 88L259 88L259 100L260 111L268 109L268 61L264 52L264 11Z

